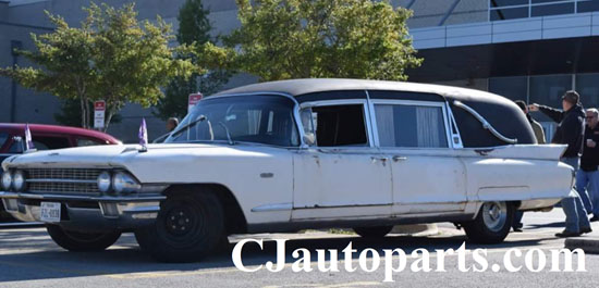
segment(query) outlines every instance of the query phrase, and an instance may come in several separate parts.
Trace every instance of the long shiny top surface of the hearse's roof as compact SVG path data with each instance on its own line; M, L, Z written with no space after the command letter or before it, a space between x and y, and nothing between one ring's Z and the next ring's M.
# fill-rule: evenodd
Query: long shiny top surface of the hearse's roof
M280 92L295 98L303 95L323 91L339 90L388 90L416 92L423 95L439 95L448 100L467 101L474 100L484 102L511 102L509 99L490 92L443 85L419 84L407 82L368 80L368 79L343 79L343 78L306 78L278 80L246 85L221 91L215 96L254 92Z

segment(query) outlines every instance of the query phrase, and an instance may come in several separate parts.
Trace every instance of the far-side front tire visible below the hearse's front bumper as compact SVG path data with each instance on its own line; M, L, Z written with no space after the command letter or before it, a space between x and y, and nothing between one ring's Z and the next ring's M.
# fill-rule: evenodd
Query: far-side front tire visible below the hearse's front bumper
M58 225L46 225L48 234L60 247L73 252L103 251L112 246L119 237L120 231L111 233L82 233L71 231Z

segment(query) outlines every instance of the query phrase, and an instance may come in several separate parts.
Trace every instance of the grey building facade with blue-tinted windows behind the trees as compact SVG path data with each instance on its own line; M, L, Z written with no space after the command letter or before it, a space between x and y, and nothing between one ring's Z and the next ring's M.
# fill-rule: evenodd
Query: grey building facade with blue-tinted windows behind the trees
M125 0L106 0L120 7ZM160 15L173 24L184 0L137 1L139 18ZM47 10L76 26L88 0L0 0L0 66L28 65L12 48L33 49L30 33L48 33ZM414 47L425 58L409 80L488 90L513 100L560 107L564 91L576 89L586 108L599 107L599 0L392 0L414 11L408 21ZM235 0L205 0L213 34L240 25ZM255 82L234 77L229 87ZM0 77L0 122L54 123L56 97ZM135 141L142 117L150 135L164 132L150 109L130 104L109 133ZM551 137L553 123L534 114Z

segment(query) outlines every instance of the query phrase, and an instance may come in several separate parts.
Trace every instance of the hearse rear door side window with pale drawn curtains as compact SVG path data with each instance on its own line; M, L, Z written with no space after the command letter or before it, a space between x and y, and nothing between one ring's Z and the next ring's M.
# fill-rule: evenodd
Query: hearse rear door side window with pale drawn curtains
M440 107L375 104L381 147L447 148Z

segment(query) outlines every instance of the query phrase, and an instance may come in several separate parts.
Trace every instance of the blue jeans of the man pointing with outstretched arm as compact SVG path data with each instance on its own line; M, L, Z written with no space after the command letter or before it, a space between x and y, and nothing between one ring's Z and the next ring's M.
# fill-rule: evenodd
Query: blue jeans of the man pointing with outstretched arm
M580 163L579 158L562 158L562 162L574 167L574 171L577 172ZM580 200L580 196L576 189L572 189L573 197L566 197L562 199L562 209L565 214L565 230L572 233L579 233L580 229L589 228L590 222L587 217L587 211Z

